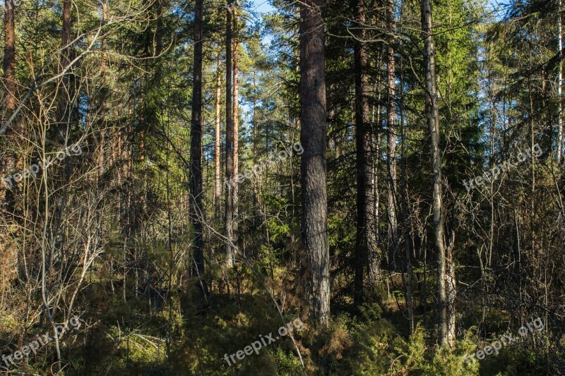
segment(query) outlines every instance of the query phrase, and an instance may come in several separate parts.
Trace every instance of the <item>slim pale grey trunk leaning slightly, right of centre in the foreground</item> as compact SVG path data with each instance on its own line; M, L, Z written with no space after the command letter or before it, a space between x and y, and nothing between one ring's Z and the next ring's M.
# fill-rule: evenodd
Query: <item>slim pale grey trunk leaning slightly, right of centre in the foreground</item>
M436 59L432 38L432 0L422 0L422 38L424 39L424 72L426 117L431 139L432 184L433 188L433 226L434 245L437 260L437 320L438 341L441 346L453 345L454 337L448 329L448 301L446 291L447 267L446 245L444 240L444 216L441 187L441 150L439 145L439 107L436 83ZM450 247L451 248L451 247ZM450 267L451 271L451 267ZM454 315L454 310L450 310ZM455 327L453 327L455 329Z

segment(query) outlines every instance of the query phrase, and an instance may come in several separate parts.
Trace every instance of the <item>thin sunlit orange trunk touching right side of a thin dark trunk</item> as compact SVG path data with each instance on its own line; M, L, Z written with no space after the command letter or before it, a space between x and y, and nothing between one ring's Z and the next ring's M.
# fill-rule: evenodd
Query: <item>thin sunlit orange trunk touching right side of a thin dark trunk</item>
M239 198L237 193L239 191L239 183L237 175L239 174L239 66L238 66L238 47L239 47L239 31L237 30L237 7L233 8L233 23L234 23L234 108L233 108L233 124L234 124L234 187L233 187L233 219L232 219L232 243L237 245L237 229L238 229L238 216L239 216Z

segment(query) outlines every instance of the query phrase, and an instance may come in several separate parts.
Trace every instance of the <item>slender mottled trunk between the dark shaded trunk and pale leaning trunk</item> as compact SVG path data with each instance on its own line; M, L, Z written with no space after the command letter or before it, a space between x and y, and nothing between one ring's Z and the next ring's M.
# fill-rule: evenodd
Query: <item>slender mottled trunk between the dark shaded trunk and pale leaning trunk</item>
M386 141L388 144L387 172L388 172L388 268L396 270L398 255L398 222L396 219L396 95L395 71L396 61L394 58L394 0L387 1L386 7L386 28L388 31L388 46L386 53L386 85L387 85L387 104L386 112L388 116Z

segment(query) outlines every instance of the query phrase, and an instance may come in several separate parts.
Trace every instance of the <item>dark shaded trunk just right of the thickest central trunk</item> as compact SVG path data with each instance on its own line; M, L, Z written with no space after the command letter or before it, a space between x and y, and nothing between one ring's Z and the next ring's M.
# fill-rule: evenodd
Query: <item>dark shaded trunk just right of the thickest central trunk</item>
M367 46L364 42L364 0L355 1L356 26L359 28L355 41L355 128L357 167L357 234L355 237L355 293L356 305L363 302L363 272L368 267L369 255L376 253L374 229L373 171L371 165L371 125L369 123L369 82L367 80Z

